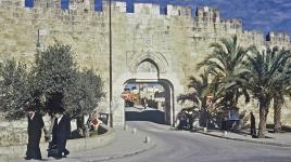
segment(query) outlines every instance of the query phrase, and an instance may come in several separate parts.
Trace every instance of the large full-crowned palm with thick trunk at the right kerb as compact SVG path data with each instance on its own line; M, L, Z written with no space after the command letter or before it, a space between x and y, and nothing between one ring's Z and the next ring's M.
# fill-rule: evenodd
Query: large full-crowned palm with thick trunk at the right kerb
M258 137L265 137L266 120L271 99L275 99L275 103L279 102L282 98L282 85L290 81L290 58L291 54L286 50L279 51L276 48L263 52L254 50L244 62L245 70L238 75L240 80L237 82L244 80L242 81L243 86L260 103Z

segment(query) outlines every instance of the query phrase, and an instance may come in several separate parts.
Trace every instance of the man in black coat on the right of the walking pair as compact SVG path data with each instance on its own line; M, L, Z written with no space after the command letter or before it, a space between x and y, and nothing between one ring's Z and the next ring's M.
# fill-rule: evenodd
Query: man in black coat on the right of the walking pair
M58 151L56 154L51 154L51 157L60 159L69 153L65 147L66 140L71 137L71 120L68 114L64 114L63 111L56 112L54 116L55 121L52 129L51 146L55 146Z

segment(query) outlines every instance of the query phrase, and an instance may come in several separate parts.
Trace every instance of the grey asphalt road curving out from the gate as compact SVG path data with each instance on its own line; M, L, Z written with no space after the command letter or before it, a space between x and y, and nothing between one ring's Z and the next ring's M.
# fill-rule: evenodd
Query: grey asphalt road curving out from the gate
M174 131L151 122L127 122L147 133L156 146L115 162L291 162L291 148L227 140Z

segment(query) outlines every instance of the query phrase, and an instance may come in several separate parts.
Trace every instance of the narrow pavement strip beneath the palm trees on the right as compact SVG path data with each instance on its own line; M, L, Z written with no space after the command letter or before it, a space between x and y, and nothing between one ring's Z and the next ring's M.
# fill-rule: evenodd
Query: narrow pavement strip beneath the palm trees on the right
M240 132L224 132L222 130L208 130L204 132L202 129L199 133L211 135L220 138L227 138L239 141L249 141L254 144L273 145L281 147L291 147L291 132L284 133L266 133L266 138L252 138L250 131L244 130Z

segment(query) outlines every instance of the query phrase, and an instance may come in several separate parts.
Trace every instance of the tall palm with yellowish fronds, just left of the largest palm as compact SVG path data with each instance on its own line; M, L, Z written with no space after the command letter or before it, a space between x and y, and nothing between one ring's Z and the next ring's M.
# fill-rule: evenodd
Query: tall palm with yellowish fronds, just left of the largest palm
M206 67L218 84L215 96L222 98L223 107L236 108L238 98L242 94L245 95L246 102L249 100L248 93L238 84L231 89L225 89L225 86L232 82L236 70L240 69L241 63L251 48L240 46L237 36L231 39L222 39L220 43L213 43L211 48L214 48L213 53L200 63L198 68Z

